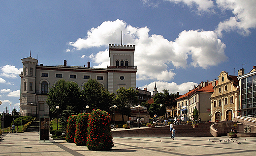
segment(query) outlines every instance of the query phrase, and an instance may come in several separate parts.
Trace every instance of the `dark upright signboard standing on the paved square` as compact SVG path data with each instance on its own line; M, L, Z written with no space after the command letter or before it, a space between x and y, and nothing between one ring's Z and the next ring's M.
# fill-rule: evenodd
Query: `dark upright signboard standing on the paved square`
M40 116L40 140L39 142L49 142L50 117Z

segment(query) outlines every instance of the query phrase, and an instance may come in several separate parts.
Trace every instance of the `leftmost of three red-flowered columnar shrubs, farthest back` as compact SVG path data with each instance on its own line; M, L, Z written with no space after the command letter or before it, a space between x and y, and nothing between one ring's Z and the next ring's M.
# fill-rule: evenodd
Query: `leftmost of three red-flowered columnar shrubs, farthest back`
M74 142L76 130L76 115L70 115L67 119L66 142Z

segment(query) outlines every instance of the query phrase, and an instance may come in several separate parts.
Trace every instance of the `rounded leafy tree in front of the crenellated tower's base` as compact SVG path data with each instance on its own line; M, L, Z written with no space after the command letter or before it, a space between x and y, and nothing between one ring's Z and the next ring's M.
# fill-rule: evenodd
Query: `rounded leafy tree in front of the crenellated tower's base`
M124 115L130 116L130 107L138 104L138 91L132 87L126 89L124 87L118 89L117 96L115 99L117 109L122 114L122 120L125 122Z

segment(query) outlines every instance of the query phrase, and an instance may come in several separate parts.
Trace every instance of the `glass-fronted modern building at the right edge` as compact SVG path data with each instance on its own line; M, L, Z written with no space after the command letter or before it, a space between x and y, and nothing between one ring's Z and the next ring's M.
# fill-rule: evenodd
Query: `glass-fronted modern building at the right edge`
M256 66L244 74L244 69L238 70L240 89L240 116L247 118L256 117Z

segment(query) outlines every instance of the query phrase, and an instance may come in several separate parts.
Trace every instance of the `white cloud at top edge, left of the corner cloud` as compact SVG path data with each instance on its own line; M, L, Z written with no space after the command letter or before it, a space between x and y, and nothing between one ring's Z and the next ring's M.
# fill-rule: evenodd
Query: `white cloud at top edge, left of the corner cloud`
M183 3L188 5L189 7L196 6L199 12L207 11L212 12L214 7L214 2L212 0L166 0L170 2L174 2L176 4Z

